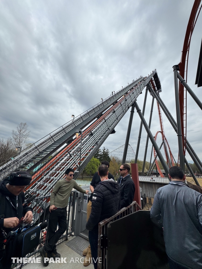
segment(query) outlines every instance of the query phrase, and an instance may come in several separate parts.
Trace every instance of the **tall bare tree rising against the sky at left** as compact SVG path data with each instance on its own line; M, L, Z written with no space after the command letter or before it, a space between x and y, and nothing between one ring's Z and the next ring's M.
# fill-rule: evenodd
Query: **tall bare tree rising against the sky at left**
M20 122L17 126L17 130L12 130L13 143L15 146L22 147L22 150L26 148L30 136L30 131L27 131L27 127L26 122Z

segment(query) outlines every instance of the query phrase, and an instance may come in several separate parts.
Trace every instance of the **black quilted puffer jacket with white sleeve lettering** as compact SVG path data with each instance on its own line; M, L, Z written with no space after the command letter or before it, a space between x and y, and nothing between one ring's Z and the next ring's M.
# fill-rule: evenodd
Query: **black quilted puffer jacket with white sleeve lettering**
M120 186L113 179L101 181L94 189L92 209L86 229L97 229L98 223L112 217L120 209Z

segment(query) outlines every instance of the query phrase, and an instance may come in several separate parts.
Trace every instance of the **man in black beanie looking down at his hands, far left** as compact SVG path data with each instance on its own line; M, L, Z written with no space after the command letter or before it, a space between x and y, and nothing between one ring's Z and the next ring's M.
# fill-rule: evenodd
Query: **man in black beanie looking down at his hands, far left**
M15 248L13 240L8 240L4 246L4 234L30 223L33 218L32 208L23 205L24 190L30 184L32 176L25 171L12 173L0 183L0 269L11 268Z

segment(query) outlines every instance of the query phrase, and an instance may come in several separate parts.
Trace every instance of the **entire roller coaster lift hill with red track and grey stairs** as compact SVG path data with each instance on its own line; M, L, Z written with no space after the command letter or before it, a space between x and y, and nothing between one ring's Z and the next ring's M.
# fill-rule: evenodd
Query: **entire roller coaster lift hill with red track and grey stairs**
M32 174L32 181L26 192L36 195L36 200L32 203L34 222L48 207L50 192L55 183L64 177L64 171L72 167L75 170L74 179L81 174L152 77L155 77L155 84L158 84L157 90L161 89L158 75L154 70L148 77L140 77L128 84L0 168L1 179L6 178L11 172L22 169ZM82 147L81 135L75 138L78 129L83 129ZM50 153L55 152L59 146L60 151L49 159Z

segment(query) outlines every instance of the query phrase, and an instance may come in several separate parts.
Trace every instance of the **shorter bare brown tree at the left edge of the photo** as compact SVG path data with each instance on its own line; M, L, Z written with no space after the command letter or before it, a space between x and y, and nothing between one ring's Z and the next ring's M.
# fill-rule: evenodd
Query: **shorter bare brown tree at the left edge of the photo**
M1 160L8 160L15 154L15 145L11 137L7 139L0 138L0 163L2 162Z

